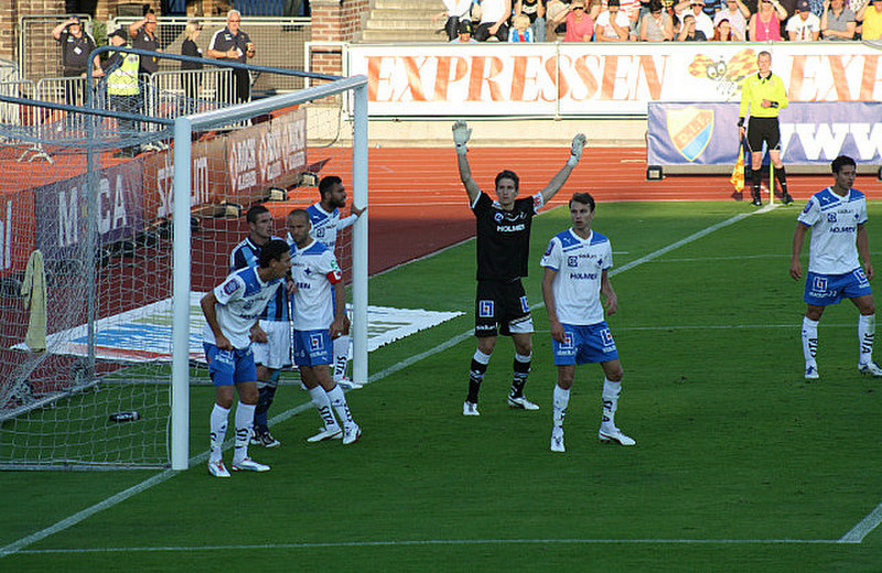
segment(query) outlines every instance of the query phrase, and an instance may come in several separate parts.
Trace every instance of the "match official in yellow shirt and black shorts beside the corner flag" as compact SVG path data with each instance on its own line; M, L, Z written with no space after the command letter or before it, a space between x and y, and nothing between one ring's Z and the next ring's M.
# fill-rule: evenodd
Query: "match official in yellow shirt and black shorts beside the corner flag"
M760 184L763 180L763 142L768 147L768 156L775 165L775 175L781 185L781 193L785 205L793 203L793 197L787 193L787 173L781 162L781 129L778 128L778 112L787 107L787 91L779 76L772 74L772 54L760 52L756 56L756 67L760 72L755 76L747 76L741 87L741 108L739 110L738 127L741 138L744 138L744 117L750 108L751 119L747 123L747 148L751 150L751 169L753 170L753 201L751 205L761 207ZM774 182L768 182L768 187L774 190Z

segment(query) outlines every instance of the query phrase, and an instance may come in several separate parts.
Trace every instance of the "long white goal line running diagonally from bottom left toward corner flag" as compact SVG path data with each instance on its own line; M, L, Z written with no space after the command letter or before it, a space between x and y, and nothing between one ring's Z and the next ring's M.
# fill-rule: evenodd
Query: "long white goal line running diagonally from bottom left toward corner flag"
M660 257L662 255L665 255L666 252L670 252L671 250L677 249L679 247L682 247L684 245L688 245L688 244L690 244L690 242L692 242L695 240L698 240L698 239L700 239L700 238L702 238L702 237L704 237L707 235L710 235L711 233L713 233L716 230L722 229L722 228L728 227L730 225L734 225L735 223L738 223L738 221L740 221L740 220L742 220L742 219L744 219L746 217L750 217L752 215L755 215L755 214L759 214L759 213L766 213L766 212L771 210L772 208L774 208L774 207L771 206L771 205L766 205L762 209L757 209L757 210L753 210L753 212L750 212L750 213L743 213L743 214L740 214L740 215L735 215L734 217L730 217L730 218L728 218L728 219L725 219L723 221L717 223L716 225L711 225L710 227L707 227L707 228L704 228L704 229L702 229L702 230L700 230L698 233L693 233L692 235L689 235L688 237L686 237L684 239L680 239L680 240L678 240L676 242L673 242L673 244L668 245L667 247L663 247L663 248L660 248L660 249L658 249L656 251L650 252L649 255L646 255L645 257L641 257L639 259L631 261L627 264L625 264L624 267L620 267L617 269L613 269L613 271L610 273L610 275L615 275L615 274L619 274L621 272L625 272L628 269L633 269L634 267L637 267L637 266L643 264L645 262L648 262L648 261L652 261L654 259L657 259L658 257ZM534 307L541 307L541 304L536 305ZM461 343L464 339L467 339L471 335L472 335L472 331L471 329L465 331L464 333L459 334L456 336L453 336L449 340L447 340L447 342L444 342L444 343L442 343L442 344L440 344L440 345L438 345L438 346L435 346L433 348L430 348L430 349L428 349L428 350L426 350L423 353L420 353L418 355L415 355L415 356L411 356L409 358L406 358L405 360L401 360L400 363L398 363L398 364L396 364L394 366L390 366L389 368L387 368L387 369L385 369L385 370L383 370L380 372L375 374L374 376L372 376L368 379L368 381L369 382L375 382L377 380L380 380L381 378L385 378L386 376L389 376L391 374L398 372L398 371L402 370L404 368L407 368L408 366L412 366L413 364L418 363L419 360L422 360L423 358L428 358L429 356L438 354L438 353L440 353L442 350L445 350L445 349L448 349L448 348ZM279 414L277 417L273 417L272 418L272 422L276 423L277 421L279 421L279 422L284 421L284 420L291 418L292 415L295 415L297 413L302 412L303 410L308 410L311 406L312 404L309 403L309 402L303 403L301 406L298 406L298 407L295 407L295 408L293 408L291 410L282 412L281 414ZM232 442L232 439L228 440L227 442L228 443ZM225 446L227 444L225 444ZM193 467L194 465L203 463L207 458L208 458L208 452L206 451L206 452L203 452L201 454L197 454L197 455L191 457L187 465L190 467ZM36 531L35 533L32 533L30 536L25 536L25 537L19 539L18 541L13 541L12 543L9 543L8 545L0 548L0 559L4 558L7 555L10 555L12 553L20 552L22 549L26 548L28 545L31 545L33 543L36 543L39 541L42 541L42 540L53 536L55 533L64 531L65 529L71 528L71 527L73 527L73 526L75 526L75 525L88 519L89 517L92 517L92 516L94 516L94 515L96 515L96 513L98 513L100 511L104 511L105 509L108 509L108 508L114 507L114 506L116 506L118 504L121 504L122 501L129 499L130 497L132 497L132 496L135 496L137 494L140 494L141 491L143 491L143 490L146 490L146 489L148 489L150 487L153 487L155 485L159 485L159 484L162 484L164 482L168 482L169 479L171 479L172 477L174 477L178 474L179 474L179 472L176 472L176 471L165 469L165 471L157 474L155 476L150 477L150 478L141 482L138 485L135 485L135 486L132 486L132 487L130 487L130 488L128 488L128 489L126 489L123 491L120 491L119 494L116 494L114 496L108 497L104 501L99 501L98 504L95 504L94 506L87 507L87 508L83 509L82 511L77 511L73 516L69 516L69 517L67 517L65 519L62 519L61 521L58 521L55 525L52 525L52 526L50 526L50 527L47 527L47 528L45 528L43 530Z

